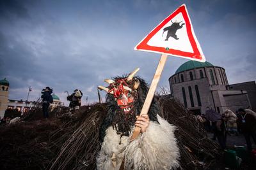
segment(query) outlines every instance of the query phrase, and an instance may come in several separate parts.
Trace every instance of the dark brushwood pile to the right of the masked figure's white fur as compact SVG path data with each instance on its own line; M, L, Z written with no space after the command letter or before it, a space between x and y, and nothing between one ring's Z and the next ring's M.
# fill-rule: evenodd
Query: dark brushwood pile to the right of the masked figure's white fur
M160 97L162 116L177 127L175 137L180 148L180 165L184 169L209 169L221 157L220 146L207 138L202 124L191 111L170 97Z

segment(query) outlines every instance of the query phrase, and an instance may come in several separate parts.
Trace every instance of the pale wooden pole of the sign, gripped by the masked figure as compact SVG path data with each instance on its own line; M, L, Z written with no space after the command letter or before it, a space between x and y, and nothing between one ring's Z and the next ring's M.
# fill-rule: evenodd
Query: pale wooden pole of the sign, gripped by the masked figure
M154 74L154 78L153 78L152 83L150 85L150 88L148 90L148 94L147 94L147 97L146 97L145 102L143 104L143 108L141 109L140 115L148 113L148 110L149 110L150 105L152 103L154 94L156 92L157 84L158 84L158 82L161 78L161 74L163 72L164 64L166 62L167 57L168 57L168 55L166 55L166 54L161 55L161 58L159 60L159 63L158 63L157 69L156 69L156 73ZM132 134L132 137L131 137L131 141L136 139L140 135L140 130L141 130L140 127L137 127L137 126L135 127L135 129L133 131L133 134Z

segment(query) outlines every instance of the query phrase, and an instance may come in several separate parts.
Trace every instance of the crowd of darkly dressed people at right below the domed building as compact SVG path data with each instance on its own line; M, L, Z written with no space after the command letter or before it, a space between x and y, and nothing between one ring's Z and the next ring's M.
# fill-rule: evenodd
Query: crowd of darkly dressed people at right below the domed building
M212 139L217 138L223 149L227 148L227 135L243 134L248 151L253 149L252 140L256 144L256 113L250 109L240 108L236 113L225 110L220 114L207 107L198 120L204 124L205 131L213 133Z

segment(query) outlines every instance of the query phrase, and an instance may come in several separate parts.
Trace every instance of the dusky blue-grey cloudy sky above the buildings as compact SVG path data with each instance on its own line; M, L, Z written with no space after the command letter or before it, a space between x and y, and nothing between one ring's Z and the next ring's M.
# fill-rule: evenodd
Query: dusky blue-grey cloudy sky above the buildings
M26 99L31 86L35 100L50 86L66 103L74 89L83 103L97 101L97 85L135 67L150 83L160 55L133 48L183 3L206 60L224 67L229 83L254 81L256 3L244 0L0 0L0 79L10 81L10 99ZM159 87L186 61L170 56Z

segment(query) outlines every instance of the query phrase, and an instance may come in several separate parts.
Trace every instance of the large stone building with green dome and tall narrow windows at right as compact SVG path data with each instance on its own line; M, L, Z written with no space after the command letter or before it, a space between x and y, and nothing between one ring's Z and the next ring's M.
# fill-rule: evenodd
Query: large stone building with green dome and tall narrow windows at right
M195 115L205 113L207 107L218 113L251 107L246 90L230 90L225 69L210 62L185 62L169 83L171 96Z

